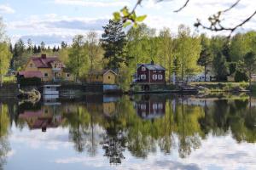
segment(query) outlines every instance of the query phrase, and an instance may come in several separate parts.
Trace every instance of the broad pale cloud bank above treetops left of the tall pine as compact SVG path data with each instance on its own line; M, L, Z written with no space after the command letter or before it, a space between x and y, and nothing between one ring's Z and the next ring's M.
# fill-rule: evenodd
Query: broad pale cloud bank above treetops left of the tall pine
M108 18L60 17L57 14L45 14L41 17L32 15L22 21L9 22L7 30L26 32L12 35L12 42L19 38L24 41L31 38L36 44L44 41L47 45L53 46L61 41L70 43L75 35L84 35L90 30L101 34L102 26L107 23Z

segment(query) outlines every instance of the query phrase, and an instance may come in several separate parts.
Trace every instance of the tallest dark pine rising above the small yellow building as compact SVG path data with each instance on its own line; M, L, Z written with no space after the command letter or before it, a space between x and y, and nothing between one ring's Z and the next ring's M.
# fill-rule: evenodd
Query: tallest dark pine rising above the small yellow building
M108 59L108 68L116 70L119 64L125 61L125 31L123 25L114 20L109 20L108 25L103 26L103 29L101 42L105 50L104 58Z

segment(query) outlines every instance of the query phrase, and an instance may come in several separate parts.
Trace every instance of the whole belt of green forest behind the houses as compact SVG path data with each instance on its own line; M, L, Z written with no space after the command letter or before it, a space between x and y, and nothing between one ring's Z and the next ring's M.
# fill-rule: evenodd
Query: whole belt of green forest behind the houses
M4 34L3 21L0 26L1 75L22 70L30 57L41 54L58 56L82 82L89 71L113 69L123 89L130 87L137 64L151 60L166 68L167 82L171 82L173 74L186 80L202 72L211 72L218 82L230 75L236 82L247 82L256 68L256 31L209 37L184 25L172 32L168 28L157 31L145 24L128 29L119 21L109 20L102 35L89 31L73 37L71 44L61 42L49 47L45 42L34 44L31 39L11 44Z

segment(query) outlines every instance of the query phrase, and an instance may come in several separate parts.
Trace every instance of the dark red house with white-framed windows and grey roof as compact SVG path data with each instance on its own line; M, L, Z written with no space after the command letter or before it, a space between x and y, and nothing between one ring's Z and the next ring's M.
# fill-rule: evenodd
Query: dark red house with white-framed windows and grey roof
M162 84L166 83L166 69L161 65L150 64L137 65L137 83Z

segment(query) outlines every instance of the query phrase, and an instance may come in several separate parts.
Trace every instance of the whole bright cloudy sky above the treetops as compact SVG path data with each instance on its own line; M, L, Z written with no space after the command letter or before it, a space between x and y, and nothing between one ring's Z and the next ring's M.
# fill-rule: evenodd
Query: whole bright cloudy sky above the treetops
M190 0L188 6L179 13L173 11L180 8L185 0L165 0L155 3L154 0L144 0L137 8L137 14L147 14L144 23L157 31L164 27L170 28L172 34L177 34L177 26L184 24L192 32L206 32L209 36L216 33L196 30L193 26L196 19L206 23L211 14L228 8L236 0ZM68 43L77 34L88 31L102 33L102 26L113 18L113 12L124 6L133 8L136 0L0 0L0 16L6 25L5 30L12 42L19 38L27 42L39 44ZM224 26L236 26L248 15L253 14L256 2L241 0L236 8L232 8L224 17ZM256 17L237 31L256 29ZM228 32L218 32L228 34Z

